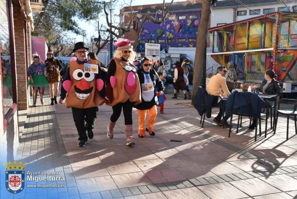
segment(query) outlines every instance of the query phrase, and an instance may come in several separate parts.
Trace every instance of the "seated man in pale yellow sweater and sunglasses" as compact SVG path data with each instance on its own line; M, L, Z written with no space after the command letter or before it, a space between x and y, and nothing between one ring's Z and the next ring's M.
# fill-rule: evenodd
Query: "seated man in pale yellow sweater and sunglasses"
M226 84L226 78L225 78L226 73L227 73L227 70L225 66L218 67L217 74L212 76L209 80L209 83L207 86L208 94L222 96L222 90L224 91L224 94L227 96L231 94ZM214 105L223 103L221 107L225 107L227 99L221 99L220 97L217 97L217 98L218 99L214 101ZM218 115L214 118L214 121L219 126L223 126L224 124L224 126L228 128L229 123L227 122L227 119L230 117L230 114L225 115L223 119L222 119L222 116L223 116L223 108L220 108L220 111Z

